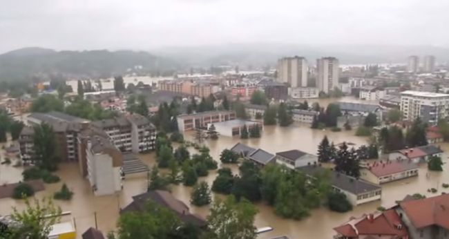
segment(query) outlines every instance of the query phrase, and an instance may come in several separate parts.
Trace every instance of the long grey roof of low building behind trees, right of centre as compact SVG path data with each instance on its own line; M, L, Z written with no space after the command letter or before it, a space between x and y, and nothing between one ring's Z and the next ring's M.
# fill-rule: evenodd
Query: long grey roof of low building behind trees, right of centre
M361 194L361 193L367 193L370 191L377 191L381 189L376 184L372 184L370 182L367 182L365 180L357 180L354 177L345 175L343 173L337 173L336 171L332 171L330 169L322 168L321 166L303 166L298 168L300 171L303 171L307 175L310 175L313 177L315 173L318 173L320 171L329 171L330 172L330 181L332 186L337 187L338 189L348 191L353 194Z

